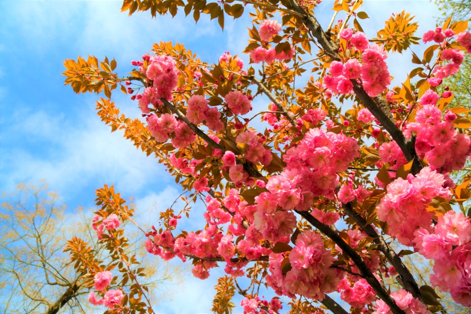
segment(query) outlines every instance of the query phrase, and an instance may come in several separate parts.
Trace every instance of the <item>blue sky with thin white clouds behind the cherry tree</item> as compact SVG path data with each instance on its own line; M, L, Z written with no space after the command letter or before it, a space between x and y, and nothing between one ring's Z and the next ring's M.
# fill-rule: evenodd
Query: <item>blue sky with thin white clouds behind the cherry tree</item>
M318 9L323 26L331 19L332 3L324 1ZM106 55L116 58L118 73L124 76L132 59L149 52L153 43L170 40L185 44L202 60L217 62L224 51L240 55L244 50L250 19L226 19L221 32L205 17L195 26L183 14L174 19L151 19L147 12L128 17L120 7L121 1L0 0L1 190L46 179L69 208L91 211L95 189L115 184L124 197L134 198L145 212L143 218L167 208L179 194L163 166L101 123L94 110L96 95L75 95L63 85L62 62L78 55ZM363 10L370 19L362 26L372 37L392 12L403 9L417 16L419 35L435 27L438 11L428 0L365 0ZM419 54L423 48L414 51ZM247 64L247 55L241 57ZM410 71L410 60L410 52L388 58L396 82ZM113 101L130 117L139 115L126 95L115 93ZM197 221L187 223L189 228L196 225ZM161 313L209 313L218 274L219 270L212 272L206 281L186 275L173 301L157 308ZM182 305L183 297L187 305Z

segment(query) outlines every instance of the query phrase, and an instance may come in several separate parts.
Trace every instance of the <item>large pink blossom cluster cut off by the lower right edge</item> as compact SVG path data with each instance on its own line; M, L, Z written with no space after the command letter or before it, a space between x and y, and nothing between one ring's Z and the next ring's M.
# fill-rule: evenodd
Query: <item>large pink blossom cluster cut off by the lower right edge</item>
M461 212L447 211L432 230L420 228L415 247L435 261L430 282L464 306L471 306L471 223Z

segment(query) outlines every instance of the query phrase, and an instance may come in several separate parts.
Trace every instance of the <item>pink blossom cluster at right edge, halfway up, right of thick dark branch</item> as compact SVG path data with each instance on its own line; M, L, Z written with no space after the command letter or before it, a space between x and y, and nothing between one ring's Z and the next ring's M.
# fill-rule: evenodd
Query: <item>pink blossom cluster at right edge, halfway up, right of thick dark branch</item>
M464 166L471 154L471 140L455 130L454 113L447 111L442 119L442 112L435 105L439 98L432 90L424 93L419 99L423 107L417 110L416 121L405 127L404 135L416 135L417 154L426 158L432 169L451 172Z

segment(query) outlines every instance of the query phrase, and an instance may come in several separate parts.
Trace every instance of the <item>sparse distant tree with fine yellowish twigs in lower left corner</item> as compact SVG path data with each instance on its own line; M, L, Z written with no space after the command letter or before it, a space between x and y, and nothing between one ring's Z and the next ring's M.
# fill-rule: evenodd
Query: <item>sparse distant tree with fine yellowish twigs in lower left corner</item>
M73 235L89 243L97 260L112 259L81 209L67 210L58 204L47 183L20 184L12 195L2 195L0 213L0 313L90 313L86 284L90 276L74 269L75 262L64 253ZM139 240L139 237L135 237ZM142 241L139 241L140 243ZM142 252L131 243L127 252ZM150 267L144 283L157 286L173 274L162 263ZM156 271L158 269L158 271Z

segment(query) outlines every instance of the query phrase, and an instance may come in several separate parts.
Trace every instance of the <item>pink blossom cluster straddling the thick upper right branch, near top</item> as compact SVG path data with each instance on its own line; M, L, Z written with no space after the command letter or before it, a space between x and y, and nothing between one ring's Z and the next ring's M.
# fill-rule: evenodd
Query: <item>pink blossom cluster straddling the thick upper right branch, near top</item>
M333 61L329 68L330 76L324 77L324 84L332 93L350 94L353 91L351 79L362 79L366 93L375 97L387 89L391 83L387 57L384 49L376 44L368 45L366 35L357 32L351 37L351 44L362 51L362 63L357 58L345 63Z

